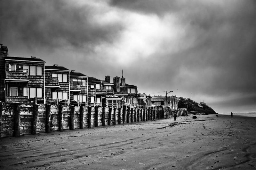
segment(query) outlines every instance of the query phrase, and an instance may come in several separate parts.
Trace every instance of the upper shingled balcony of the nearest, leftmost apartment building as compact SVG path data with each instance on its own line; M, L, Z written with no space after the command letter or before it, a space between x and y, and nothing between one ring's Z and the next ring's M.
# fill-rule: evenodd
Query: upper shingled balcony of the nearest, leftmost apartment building
M6 68L6 79L28 79L28 70L20 68Z

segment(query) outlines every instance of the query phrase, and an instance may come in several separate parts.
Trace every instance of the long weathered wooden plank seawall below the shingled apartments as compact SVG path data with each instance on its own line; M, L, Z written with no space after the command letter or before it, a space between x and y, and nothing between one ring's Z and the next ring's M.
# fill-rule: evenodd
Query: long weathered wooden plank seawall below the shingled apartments
M47 132L47 127L50 128L49 132L63 131L114 124L128 124L157 118L170 118L173 115L173 113L168 110L62 105L49 106L48 121L45 104L0 103L0 110L2 111L0 113L1 138L44 133ZM71 109L71 107L74 108ZM80 117L80 109L83 117ZM91 117L88 117L88 115L90 115L89 110L91 110ZM96 119L97 115L98 119ZM123 119L123 116L125 119ZM144 117L146 118L144 119ZM88 122L91 125L90 127ZM47 126L47 123L49 126ZM83 124L83 126L81 125L82 127L80 123Z

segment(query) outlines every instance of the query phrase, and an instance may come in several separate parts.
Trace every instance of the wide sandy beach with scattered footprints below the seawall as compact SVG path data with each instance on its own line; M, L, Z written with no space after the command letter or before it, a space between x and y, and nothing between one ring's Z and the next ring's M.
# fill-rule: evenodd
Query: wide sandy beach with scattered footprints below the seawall
M255 169L255 117L196 115L1 139L0 169Z

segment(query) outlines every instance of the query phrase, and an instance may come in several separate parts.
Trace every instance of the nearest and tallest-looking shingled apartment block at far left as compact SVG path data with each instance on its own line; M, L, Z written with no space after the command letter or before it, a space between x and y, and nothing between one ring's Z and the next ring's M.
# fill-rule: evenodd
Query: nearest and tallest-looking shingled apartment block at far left
M11 57L1 46L1 93L4 102L44 103L45 61L36 57Z

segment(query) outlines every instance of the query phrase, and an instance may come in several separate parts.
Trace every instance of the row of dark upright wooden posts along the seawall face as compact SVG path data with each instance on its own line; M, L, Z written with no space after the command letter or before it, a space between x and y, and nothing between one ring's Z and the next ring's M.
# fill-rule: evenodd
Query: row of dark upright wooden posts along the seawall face
M37 132L37 120L38 120L38 105L39 104L33 104L33 118L32 118L32 131L31 134L35 135ZM2 117L2 107L3 103L0 103L0 113ZM63 105L59 105L58 115L58 125L59 131L63 131ZM154 120L154 119L160 119L164 118L164 110L152 110L152 109L138 109L138 108L108 108L108 117L106 119L106 108L102 108L101 112L101 126L105 126L105 120L107 120L108 125L111 125L111 113L112 109L114 109L114 115L113 115L113 125L121 124L122 123L133 123L134 122L140 122L140 121L148 121L148 120ZM123 115L121 117L121 109L123 109ZM13 108L13 114L14 114L14 129L13 129L13 136L18 137L20 136L20 103L14 103ZM51 105L46 104L45 105L45 114L46 114L46 122L45 122L45 132L51 133ZM84 106L80 106L79 108L79 128L84 128ZM88 115L87 115L87 128L91 128L91 116L92 116L92 107L88 107ZM118 118L118 121L116 122L116 117ZM99 107L95 107L95 127L99 127ZM122 118L122 120L121 120ZM70 123L69 123L69 129L74 130L75 129L75 106L70 106Z

